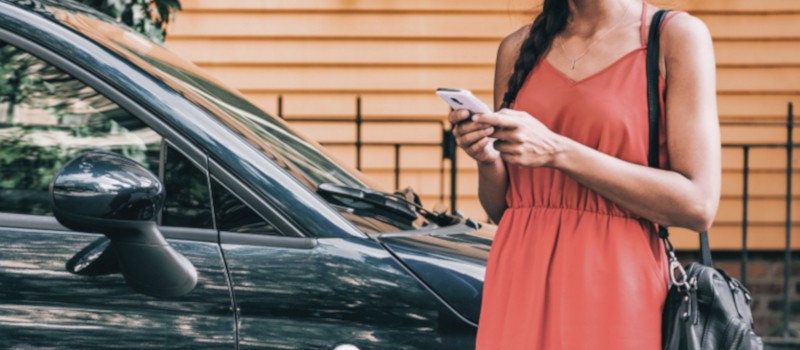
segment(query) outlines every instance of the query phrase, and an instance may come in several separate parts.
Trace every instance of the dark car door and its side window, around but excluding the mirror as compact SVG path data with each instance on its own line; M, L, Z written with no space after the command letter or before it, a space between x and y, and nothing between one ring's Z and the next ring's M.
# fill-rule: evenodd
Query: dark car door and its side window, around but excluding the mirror
M160 175L167 197L159 228L196 268L191 292L135 292L103 257L103 235L70 231L52 216L53 176L88 150ZM0 348L235 347L227 273L198 165L140 116L0 41Z

